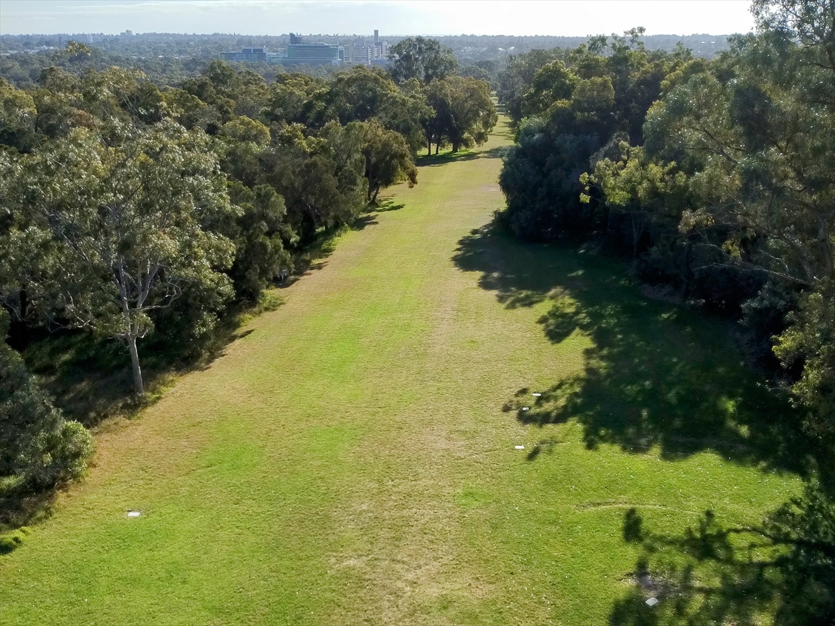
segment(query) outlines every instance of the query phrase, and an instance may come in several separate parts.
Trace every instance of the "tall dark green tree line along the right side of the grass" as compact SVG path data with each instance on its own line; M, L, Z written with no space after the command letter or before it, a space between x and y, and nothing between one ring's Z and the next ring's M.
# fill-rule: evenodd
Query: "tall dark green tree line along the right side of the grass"
M511 58L498 98L517 143L498 223L527 240L593 243L656 293L739 322L819 460L817 482L778 512L780 532L761 533L792 547L779 567L801 568L782 578L797 586L783 589L794 608L780 623L830 623L835 7L751 10L757 32L711 60L647 50L640 28Z

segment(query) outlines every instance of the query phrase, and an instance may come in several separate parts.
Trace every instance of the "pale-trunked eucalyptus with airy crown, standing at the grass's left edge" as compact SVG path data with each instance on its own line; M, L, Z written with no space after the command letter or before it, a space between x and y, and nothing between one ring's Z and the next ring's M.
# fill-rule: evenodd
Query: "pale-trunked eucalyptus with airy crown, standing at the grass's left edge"
M205 134L173 122L77 128L3 169L16 217L0 246L38 250L37 267L19 268L30 297L55 323L124 341L144 393L137 340L151 312L191 285L232 295L220 270L234 245L203 227L235 212Z

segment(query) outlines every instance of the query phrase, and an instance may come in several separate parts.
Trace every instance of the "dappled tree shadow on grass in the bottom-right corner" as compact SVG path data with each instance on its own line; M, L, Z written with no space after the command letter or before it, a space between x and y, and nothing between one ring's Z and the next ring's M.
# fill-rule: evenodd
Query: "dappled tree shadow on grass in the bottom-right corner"
M780 626L835 623L835 500L817 482L756 526L726 526L706 511L671 537L642 522L626 512L624 540L642 554L611 626L755 626L764 615Z

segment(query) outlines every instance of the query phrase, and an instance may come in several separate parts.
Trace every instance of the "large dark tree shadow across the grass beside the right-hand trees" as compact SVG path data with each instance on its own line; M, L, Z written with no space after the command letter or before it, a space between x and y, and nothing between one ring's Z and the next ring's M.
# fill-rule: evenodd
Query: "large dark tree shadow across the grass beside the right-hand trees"
M509 399L504 410L520 422L574 418L592 449L659 447L667 459L711 450L735 462L807 471L811 459L792 407L757 384L719 321L645 300L609 260L524 244L493 226L460 240L454 261L479 272L479 285L508 308L547 301L539 324L554 344L578 335L591 341L579 374Z

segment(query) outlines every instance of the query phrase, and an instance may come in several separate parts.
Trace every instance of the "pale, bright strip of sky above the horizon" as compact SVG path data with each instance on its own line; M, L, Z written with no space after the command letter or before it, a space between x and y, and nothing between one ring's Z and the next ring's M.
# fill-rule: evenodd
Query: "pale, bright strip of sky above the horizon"
M0 0L0 33L746 33L749 0Z

